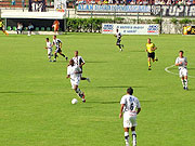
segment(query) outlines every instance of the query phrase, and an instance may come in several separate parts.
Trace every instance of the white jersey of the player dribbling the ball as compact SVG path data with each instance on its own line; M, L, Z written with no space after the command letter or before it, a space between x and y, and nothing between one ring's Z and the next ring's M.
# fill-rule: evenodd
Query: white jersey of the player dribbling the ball
M76 74L79 71L81 71L81 69L78 65L74 65L74 66L69 65L67 67L67 75L70 76L72 80L79 80L80 79L80 74Z

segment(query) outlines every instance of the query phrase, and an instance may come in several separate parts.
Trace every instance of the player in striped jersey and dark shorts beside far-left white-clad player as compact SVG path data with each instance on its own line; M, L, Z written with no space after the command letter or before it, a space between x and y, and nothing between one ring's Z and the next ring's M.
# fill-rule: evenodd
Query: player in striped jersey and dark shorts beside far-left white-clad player
M53 62L56 62L57 53L61 54L63 57L65 57L65 59L67 61L68 57L66 57L66 56L62 53L62 41L56 38L56 35L53 36L52 47L53 47L53 45L56 47L55 52L54 52L54 59L53 59Z

